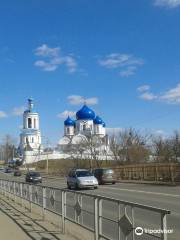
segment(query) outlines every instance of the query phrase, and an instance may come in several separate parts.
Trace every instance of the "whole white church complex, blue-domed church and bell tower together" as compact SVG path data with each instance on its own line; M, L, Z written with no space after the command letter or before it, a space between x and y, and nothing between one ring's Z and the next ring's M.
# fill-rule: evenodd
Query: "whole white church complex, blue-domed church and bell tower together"
M20 134L19 153L24 163L33 163L48 159L71 159L72 149L87 143L95 143L99 159L111 159L109 138L106 125L101 117L86 104L76 113L76 119L69 116L64 121L64 136L59 140L54 151L46 152L41 143L39 114L34 109L33 99L28 99L27 109L23 113L23 128ZM74 157L78 157L74 153ZM109 155L109 157L108 157ZM83 158L89 157L88 147L83 151Z

